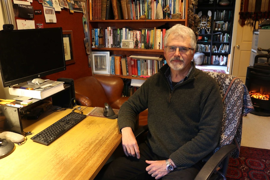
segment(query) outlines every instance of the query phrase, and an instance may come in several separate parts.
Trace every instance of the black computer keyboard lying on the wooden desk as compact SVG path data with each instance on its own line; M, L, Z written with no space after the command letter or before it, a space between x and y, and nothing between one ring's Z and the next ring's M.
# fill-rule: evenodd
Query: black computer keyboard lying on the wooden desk
M71 112L62 119L56 121L51 126L39 132L37 135L31 137L31 139L35 142L48 146L84 118L86 118L86 115L84 114Z

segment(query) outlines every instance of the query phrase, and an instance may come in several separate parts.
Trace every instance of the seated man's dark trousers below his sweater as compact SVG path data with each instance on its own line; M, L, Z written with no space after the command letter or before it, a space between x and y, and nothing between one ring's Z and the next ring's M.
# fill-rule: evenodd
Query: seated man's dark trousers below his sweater
M147 143L144 142L139 145L141 158L136 157L118 157L111 163L105 165L96 176L95 180L147 180L155 179L149 175L145 170L149 164L145 160L166 160L165 157L160 157L152 152L151 148L148 147ZM203 167L204 162L198 162L192 167L186 169L174 169L162 180L169 179L183 179L183 180L194 180L200 169Z

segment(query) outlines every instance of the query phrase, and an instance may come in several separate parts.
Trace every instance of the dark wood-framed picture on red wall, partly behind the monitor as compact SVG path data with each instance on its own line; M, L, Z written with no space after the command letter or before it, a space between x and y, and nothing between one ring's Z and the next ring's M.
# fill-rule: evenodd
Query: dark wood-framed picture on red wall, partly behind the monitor
M66 64L75 63L72 31L63 31L63 42Z

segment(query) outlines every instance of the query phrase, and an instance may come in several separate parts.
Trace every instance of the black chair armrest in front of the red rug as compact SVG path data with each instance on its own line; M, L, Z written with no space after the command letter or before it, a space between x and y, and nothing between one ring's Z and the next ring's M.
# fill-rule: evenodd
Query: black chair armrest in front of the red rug
M215 169L220 165L220 163L228 158L233 150L236 149L236 145L229 144L221 147L217 152L210 157L210 159L205 163L200 172L197 174L194 180L208 180L211 175L215 172ZM226 164L227 166L227 164ZM223 167L226 168L227 167Z

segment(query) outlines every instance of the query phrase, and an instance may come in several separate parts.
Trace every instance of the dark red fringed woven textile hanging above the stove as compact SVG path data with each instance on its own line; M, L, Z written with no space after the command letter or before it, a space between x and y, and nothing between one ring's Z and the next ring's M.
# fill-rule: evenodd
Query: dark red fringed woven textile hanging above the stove
M270 18L269 0L241 0L239 24L242 27L255 28L257 22L260 24L267 18Z

